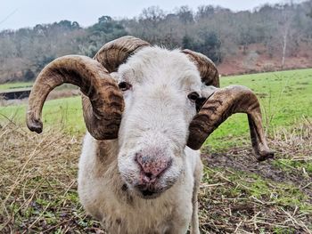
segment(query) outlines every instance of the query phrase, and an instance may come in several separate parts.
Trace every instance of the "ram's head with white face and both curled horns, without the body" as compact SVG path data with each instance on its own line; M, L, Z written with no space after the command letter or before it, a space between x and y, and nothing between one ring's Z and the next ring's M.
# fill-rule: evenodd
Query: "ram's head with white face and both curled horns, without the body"
M94 59L70 55L48 64L30 93L27 125L41 133L48 93L63 83L78 85L88 132L99 141L118 139L122 178L138 195L155 198L183 173L187 147L200 149L234 113L247 113L256 157L273 157L255 94L238 85L220 89L218 79L201 53L124 36L104 44Z

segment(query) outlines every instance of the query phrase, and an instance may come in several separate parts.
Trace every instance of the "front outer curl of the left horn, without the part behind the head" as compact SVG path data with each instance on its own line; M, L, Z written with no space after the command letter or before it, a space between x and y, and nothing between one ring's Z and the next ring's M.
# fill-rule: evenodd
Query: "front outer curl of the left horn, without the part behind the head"
M47 95L59 85L78 85L90 101L85 110L86 128L95 139L117 137L124 101L118 85L103 66L86 56L69 55L49 63L37 77L29 96L27 125L42 132L41 112Z

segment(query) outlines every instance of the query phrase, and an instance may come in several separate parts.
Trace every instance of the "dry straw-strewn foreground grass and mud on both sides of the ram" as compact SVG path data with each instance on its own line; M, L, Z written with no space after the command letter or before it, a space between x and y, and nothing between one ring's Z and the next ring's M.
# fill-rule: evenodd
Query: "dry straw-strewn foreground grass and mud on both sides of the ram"
M37 135L3 122L0 233L102 233L78 202L81 136L47 128ZM311 134L308 119L276 132L270 141L276 160L264 164L249 148L204 155L201 232L312 233Z

